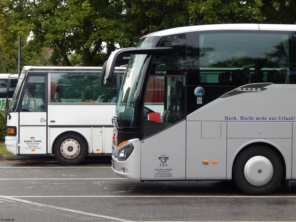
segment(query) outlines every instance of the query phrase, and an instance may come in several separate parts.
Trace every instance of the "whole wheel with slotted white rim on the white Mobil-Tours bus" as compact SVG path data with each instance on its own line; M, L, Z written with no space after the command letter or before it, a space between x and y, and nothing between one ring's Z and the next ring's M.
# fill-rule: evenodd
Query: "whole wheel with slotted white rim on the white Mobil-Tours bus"
M88 146L85 139L77 133L65 133L53 144L54 157L64 165L77 165L87 154Z

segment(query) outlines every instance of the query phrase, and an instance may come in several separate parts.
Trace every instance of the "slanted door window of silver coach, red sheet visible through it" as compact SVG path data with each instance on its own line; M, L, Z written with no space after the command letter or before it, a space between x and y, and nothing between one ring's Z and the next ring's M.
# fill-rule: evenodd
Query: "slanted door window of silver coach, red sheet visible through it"
M145 101L144 138L185 118L185 77L150 76Z

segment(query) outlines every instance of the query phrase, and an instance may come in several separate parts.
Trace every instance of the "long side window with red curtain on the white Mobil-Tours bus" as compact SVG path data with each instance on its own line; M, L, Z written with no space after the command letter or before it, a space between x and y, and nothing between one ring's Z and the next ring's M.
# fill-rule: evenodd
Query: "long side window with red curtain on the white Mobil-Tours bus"
M116 102L116 78L104 87L100 73L51 73L51 102Z

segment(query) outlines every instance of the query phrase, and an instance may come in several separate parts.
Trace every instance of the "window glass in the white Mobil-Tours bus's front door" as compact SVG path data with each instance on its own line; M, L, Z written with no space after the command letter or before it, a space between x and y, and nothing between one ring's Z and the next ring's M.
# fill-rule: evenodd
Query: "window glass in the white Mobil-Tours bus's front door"
M30 76L22 97L21 110L24 112L45 111L45 77Z

